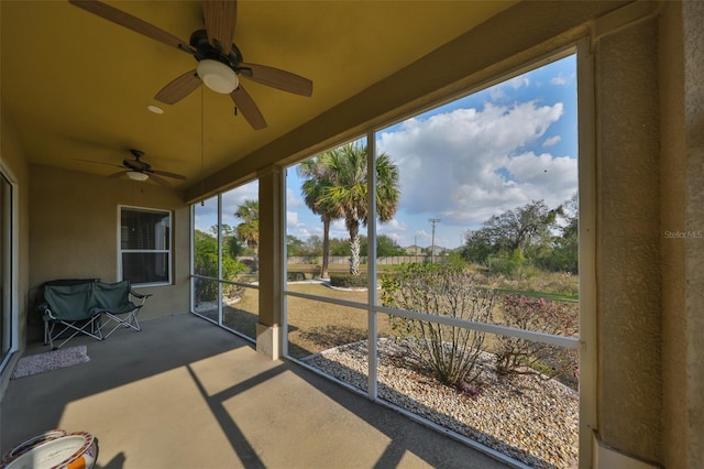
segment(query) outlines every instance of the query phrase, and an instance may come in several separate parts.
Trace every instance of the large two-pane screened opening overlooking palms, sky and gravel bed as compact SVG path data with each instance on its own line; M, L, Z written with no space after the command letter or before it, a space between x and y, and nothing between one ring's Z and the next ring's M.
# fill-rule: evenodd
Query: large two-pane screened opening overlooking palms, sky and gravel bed
M580 463L573 52L292 166L289 358L507 461Z

